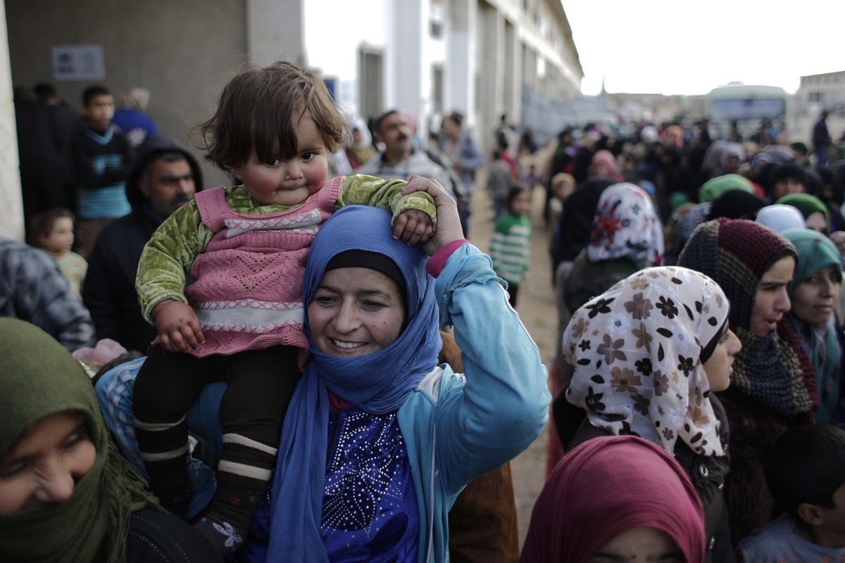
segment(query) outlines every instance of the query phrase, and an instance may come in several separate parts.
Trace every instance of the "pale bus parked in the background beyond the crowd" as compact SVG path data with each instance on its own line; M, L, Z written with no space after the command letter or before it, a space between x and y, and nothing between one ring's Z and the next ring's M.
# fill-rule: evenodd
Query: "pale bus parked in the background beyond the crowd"
M776 137L786 127L788 100L787 91L779 86L732 82L711 89L707 94L707 108L711 127L717 130L714 138L729 138L733 122L746 139L769 122L770 133Z

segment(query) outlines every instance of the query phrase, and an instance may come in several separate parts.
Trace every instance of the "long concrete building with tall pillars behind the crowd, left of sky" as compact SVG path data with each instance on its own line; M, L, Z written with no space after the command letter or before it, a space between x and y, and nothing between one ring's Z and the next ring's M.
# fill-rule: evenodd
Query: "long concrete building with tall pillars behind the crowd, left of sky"
M74 107L90 84L108 85L118 101L129 88L150 89L150 116L198 157L194 127L247 62L300 62L322 73L347 113L400 107L417 116L421 138L461 111L484 148L502 113L520 125L524 100L574 98L583 77L559 0L5 0L4 8L0 67L15 88L52 82ZM80 57L81 72L63 72L69 57ZM208 185L228 181L209 165L204 174Z

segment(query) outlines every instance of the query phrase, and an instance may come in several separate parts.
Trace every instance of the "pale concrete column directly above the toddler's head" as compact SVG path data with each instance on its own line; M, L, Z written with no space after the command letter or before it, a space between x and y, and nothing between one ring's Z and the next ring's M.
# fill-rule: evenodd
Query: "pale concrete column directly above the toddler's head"
M305 64L303 0L247 0L249 62Z

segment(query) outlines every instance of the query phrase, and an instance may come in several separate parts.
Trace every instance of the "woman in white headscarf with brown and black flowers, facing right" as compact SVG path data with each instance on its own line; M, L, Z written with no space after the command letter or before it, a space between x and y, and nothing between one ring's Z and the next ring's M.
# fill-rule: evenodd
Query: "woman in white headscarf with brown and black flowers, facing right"
M673 454L705 506L706 561L733 560L721 490L728 425L711 396L728 387L740 349L728 308L706 275L647 268L588 301L564 333L575 366L566 398L581 412L577 430L559 429L567 449L632 435Z

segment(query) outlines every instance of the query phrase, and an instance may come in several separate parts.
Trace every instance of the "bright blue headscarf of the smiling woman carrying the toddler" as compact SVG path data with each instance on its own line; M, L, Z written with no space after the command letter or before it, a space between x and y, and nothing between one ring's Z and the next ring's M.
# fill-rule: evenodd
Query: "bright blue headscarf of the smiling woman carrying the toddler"
M308 326L326 265L341 252L368 251L389 257L407 285L405 330L393 344L370 355L337 358L316 348ZM329 439L329 392L372 414L398 410L437 364L441 341L434 279L419 246L394 240L390 212L341 208L314 238L303 279L305 333L311 359L297 384L281 430L270 506L270 561L328 561L319 535Z

